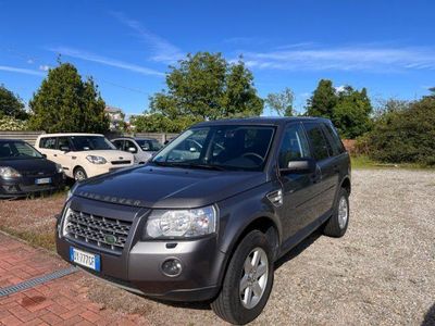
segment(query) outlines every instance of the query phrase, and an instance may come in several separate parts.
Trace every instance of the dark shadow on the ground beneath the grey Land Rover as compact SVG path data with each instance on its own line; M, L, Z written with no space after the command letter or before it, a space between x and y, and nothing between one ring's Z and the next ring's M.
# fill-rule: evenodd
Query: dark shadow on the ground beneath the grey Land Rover
M320 230L314 231L311 236L302 240L299 244L297 244L295 248L293 248L290 251L288 251L284 256L282 256L279 260L275 262L275 269L279 268L282 265L285 263L291 261L294 258L298 256L300 253L302 253L307 248L309 248L312 243L315 242L320 237L322 236L322 233ZM137 294L139 296L139 294ZM139 296L141 297L141 296ZM160 302L163 304L167 304L175 308L186 308L186 309L192 309L192 310L211 310L210 301L204 301L204 302L174 302L174 301L165 301L157 298L147 298L149 300ZM430 325L430 324L427 324ZM427 326L424 325L424 326Z

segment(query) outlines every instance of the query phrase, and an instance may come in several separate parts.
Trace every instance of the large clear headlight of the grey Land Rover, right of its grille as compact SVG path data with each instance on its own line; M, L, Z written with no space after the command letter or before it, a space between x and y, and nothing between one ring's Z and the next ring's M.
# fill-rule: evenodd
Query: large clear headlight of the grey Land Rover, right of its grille
M216 231L216 210L156 210L148 217L145 238L191 238Z

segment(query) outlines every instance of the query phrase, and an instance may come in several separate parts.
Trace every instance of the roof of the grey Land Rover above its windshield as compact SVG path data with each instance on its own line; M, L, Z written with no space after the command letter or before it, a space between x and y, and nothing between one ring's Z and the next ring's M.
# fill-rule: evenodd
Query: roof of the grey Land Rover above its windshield
M324 117L312 117L312 116L256 116L256 117L244 117L244 118L224 118L215 121L206 121L196 124L195 126L209 126L209 125L269 125L276 126L283 125L288 122L302 122L302 121L322 121L327 122Z

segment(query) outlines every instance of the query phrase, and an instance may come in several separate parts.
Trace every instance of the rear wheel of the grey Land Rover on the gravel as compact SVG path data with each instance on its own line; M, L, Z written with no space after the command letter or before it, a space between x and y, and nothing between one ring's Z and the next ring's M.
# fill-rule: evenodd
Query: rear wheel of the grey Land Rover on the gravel
M349 193L345 188L338 192L337 202L334 205L334 212L326 222L323 233L326 236L339 238L346 234L349 225Z

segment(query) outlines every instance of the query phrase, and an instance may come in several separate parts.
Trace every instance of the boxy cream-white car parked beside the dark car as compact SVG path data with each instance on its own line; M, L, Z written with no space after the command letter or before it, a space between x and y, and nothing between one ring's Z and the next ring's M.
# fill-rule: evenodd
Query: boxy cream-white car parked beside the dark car
M38 137L35 147L76 180L134 164L133 154L116 150L98 134L45 134Z

